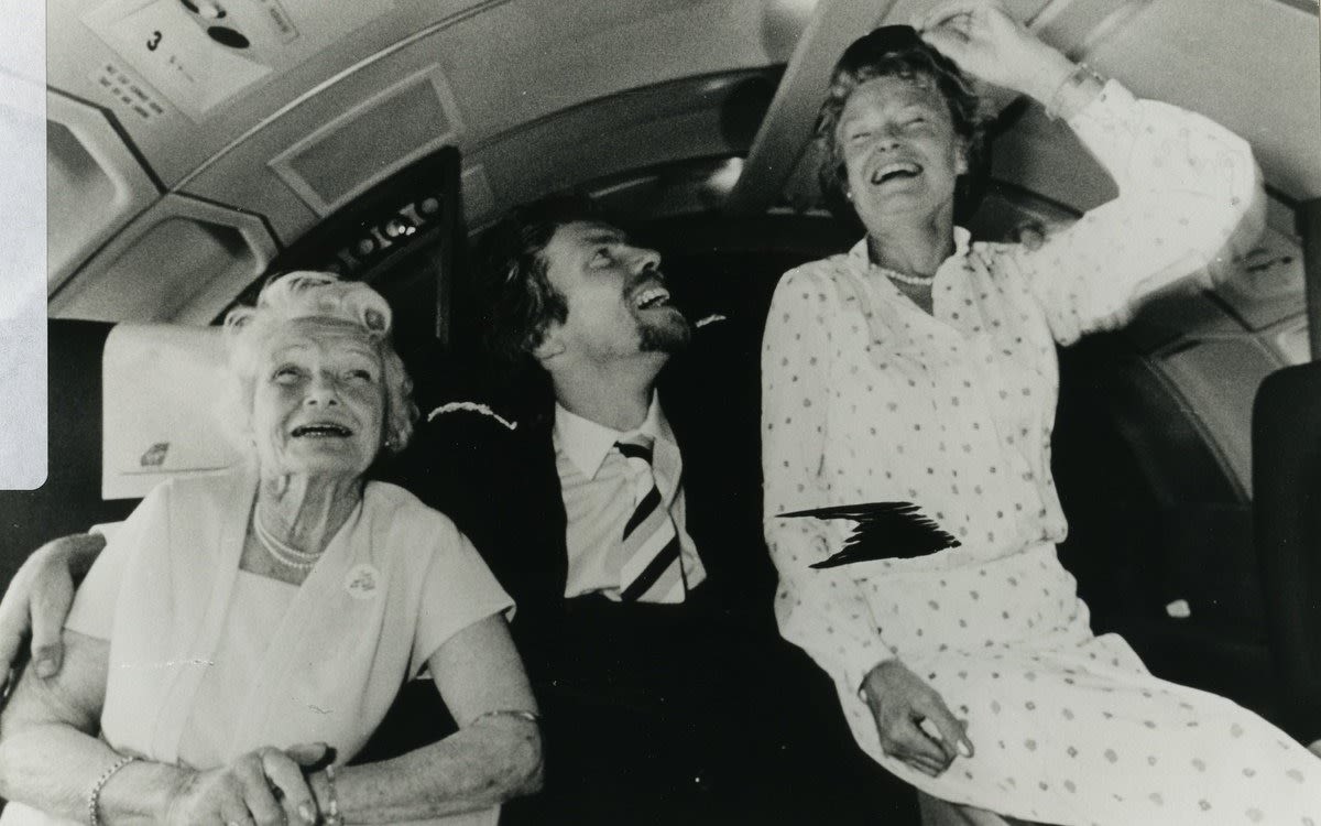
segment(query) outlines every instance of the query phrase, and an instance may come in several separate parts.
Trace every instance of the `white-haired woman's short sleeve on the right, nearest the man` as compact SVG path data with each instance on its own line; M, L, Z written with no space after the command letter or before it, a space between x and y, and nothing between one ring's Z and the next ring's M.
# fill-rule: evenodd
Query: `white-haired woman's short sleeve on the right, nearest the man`
M439 515L439 514L437 514ZM435 543L423 574L410 679L417 677L446 640L494 613L514 616L514 600L499 587L477 548L448 519L428 531Z

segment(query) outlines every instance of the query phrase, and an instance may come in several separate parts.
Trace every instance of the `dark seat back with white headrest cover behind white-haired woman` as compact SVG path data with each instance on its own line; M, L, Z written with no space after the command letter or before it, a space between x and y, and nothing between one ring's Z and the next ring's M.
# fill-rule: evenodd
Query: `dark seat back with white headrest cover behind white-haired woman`
M46 336L48 477L0 492L4 583L41 543L123 519L160 481L242 460L214 412L215 328L52 319Z

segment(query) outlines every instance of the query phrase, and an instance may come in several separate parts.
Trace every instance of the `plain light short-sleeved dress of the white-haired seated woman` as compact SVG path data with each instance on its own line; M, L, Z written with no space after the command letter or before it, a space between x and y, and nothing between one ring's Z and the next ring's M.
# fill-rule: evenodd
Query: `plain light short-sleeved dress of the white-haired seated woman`
M301 585L239 571L255 493L247 470L164 482L78 589L66 626L110 641L102 736L116 751L209 769L322 741L345 763L446 640L513 607L448 518L383 482ZM3 819L62 822L16 804Z

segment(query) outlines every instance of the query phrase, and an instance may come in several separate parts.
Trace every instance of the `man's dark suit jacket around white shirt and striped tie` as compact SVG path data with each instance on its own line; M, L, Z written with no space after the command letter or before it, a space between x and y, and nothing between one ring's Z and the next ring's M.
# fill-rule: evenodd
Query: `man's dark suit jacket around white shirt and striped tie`
M621 720L651 719L662 732L687 728L742 737L738 732L746 727L725 719L733 710L760 720L749 723L757 726L760 740L741 744L741 757L731 756L738 744L696 737L672 745L659 760L676 776L712 773L703 761L715 760L717 752L741 761L745 774L740 777L736 769L724 782L770 790L762 822L808 822L807 811L830 814L834 822L855 822L855 815L864 822L878 811L877 794L892 790L884 773L853 745L826 675L775 629L775 574L761 527L758 365L760 328L724 320L695 330L690 348L660 377L660 404L683 456L686 527L707 570L700 599L660 611L564 597L567 517L552 443L553 399L544 377L519 383L536 389L534 398L494 402L493 394L473 390L472 382L457 375L428 377L443 389L424 399L413 443L386 476L448 514L514 597L514 640L547 716L548 785L563 788L567 772L592 772L592 767L564 768L573 763L563 757L565 739L590 748L593 737L609 737L610 749L600 753L600 761L626 765L655 757L643 753L647 743L629 741L630 735L643 739L655 731L638 733ZM489 402L517 427L469 410L428 420L432 410L448 402ZM653 621L657 613L682 619L658 624ZM631 648L639 650L624 650ZM691 657L690 649L696 649ZM704 673L684 674L692 669ZM687 690L690 708L680 711L683 702L676 703L671 690ZM709 704L700 694L708 690L719 695ZM415 700L412 707L419 703L433 704L433 699ZM695 704L701 707L694 711ZM408 707L402 703L399 724L416 744L424 743L435 732L427 733L416 719L408 722L415 714ZM564 719L568 715L576 719ZM768 768L761 757L778 763ZM807 805L804 798L793 814L783 800L790 782L827 800L812 797ZM744 797L748 788L741 790ZM775 794L781 798L774 800ZM675 811L691 807L680 804ZM766 813L775 815L765 819ZM532 814L528 822L538 819ZM697 815L696 822L716 821Z

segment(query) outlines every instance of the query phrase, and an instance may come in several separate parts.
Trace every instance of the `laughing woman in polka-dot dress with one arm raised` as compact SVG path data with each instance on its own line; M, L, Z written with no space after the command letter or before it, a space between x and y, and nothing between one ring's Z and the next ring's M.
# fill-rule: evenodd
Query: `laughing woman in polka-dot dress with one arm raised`
M1321 822L1321 761L1092 636L1055 543L1055 344L1207 264L1258 197L1248 147L1135 100L992 3L888 26L835 69L823 182L867 238L779 283L765 333L766 538L782 633L859 744L931 796L1052 823ZM978 149L963 75L1063 119L1119 196L1032 248L954 225ZM778 514L908 500L959 544L814 570L849 526ZM987 815L985 811L970 818Z

